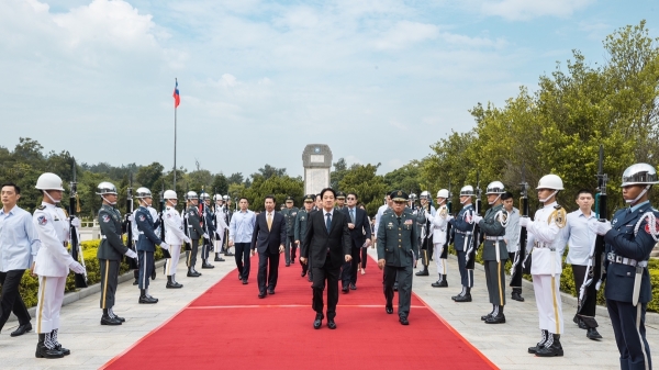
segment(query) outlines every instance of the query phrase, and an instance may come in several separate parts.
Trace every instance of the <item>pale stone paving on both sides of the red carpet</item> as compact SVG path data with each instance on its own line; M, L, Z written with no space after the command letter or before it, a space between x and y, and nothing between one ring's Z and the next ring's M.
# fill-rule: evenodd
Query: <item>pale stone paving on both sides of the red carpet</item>
M369 254L375 256L375 249L369 249ZM124 325L101 326L99 324L101 311L98 309L98 293L63 307L59 338L67 348L71 349L71 355L63 359L34 358L36 334L32 332L11 338L9 333L16 327L18 323L9 322L0 334L1 368L64 369L75 366L76 369L97 369L166 323L190 301L235 269L233 257L230 257L225 262L214 262L215 269L200 270L203 276L192 279L185 276L183 264L181 261L179 266L180 277L177 279L185 284L183 289L165 289L166 279L161 274L163 270L158 269L158 278L152 282L150 293L160 299L160 302L154 305L137 304L138 291L132 285L132 279L120 284L114 311L126 318ZM561 343L566 355L561 358L537 358L526 352L526 348L534 345L539 336L533 290L524 289L523 295L526 302L507 301L506 324L487 325L480 321L480 316L491 309L482 270L477 268L474 271L476 287L472 290L473 302L471 303L455 303L450 300L451 295L459 292L457 260L449 259L448 272L449 288L432 288L431 282L437 278L433 265L429 277L414 277L414 292L501 369L618 369L618 354L608 318L599 318L599 330L604 338L600 341L590 340L585 337L585 330L579 329L571 321L574 306L563 300L566 333L561 336ZM367 273L381 272L376 264L369 260ZM253 289L256 295L254 264L250 274L250 282L246 289ZM227 277L227 279L235 279L235 277ZM359 291L354 293L359 294ZM510 296L510 292L507 294ZM411 325L423 325L414 321L414 311L410 314L410 322ZM657 357L659 325L650 324L646 327L650 349ZM450 350L450 348L437 348L437 350ZM221 363L222 357L231 354L223 354L222 348L219 348L216 355ZM437 366L443 367L442 363ZM458 366L447 366L447 368L458 368Z

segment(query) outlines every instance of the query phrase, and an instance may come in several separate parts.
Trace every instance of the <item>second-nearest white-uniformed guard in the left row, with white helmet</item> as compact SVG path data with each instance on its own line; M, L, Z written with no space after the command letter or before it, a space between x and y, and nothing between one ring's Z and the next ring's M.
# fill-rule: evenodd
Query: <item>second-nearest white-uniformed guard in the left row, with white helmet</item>
M178 197L176 191L167 190L163 195L165 198L165 214L163 220L165 223L165 243L169 245L169 255L165 264L165 273L167 274L167 284L165 288L178 289L183 288L176 281L176 269L178 267L179 258L181 256L181 246L183 243L192 243L192 240L183 232L183 218L176 212L176 204Z

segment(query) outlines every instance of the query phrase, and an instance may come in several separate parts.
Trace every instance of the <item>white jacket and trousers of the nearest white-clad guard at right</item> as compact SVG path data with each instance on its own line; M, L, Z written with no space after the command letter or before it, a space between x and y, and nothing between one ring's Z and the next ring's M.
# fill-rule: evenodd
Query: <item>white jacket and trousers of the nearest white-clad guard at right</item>
M562 254L566 249L565 225L567 215L554 202L536 211L534 221L526 229L527 247L532 250L530 274L539 314L540 330L551 334L563 332L560 301L560 274Z

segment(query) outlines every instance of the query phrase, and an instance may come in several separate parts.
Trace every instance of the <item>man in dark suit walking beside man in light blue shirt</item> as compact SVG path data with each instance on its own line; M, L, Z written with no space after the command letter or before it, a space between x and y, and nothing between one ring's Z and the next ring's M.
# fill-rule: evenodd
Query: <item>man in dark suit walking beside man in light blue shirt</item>
M266 212L256 216L252 234L252 256L258 250L258 298L275 294L279 276L279 254L283 253L283 243L286 243L286 220L281 213L275 212L275 197L268 195Z

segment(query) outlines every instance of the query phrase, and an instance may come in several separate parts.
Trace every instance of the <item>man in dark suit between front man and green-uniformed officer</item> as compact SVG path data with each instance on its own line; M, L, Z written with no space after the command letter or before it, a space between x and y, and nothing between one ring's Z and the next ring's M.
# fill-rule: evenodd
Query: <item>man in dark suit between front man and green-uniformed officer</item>
M348 216L348 229L351 240L350 255L353 260L345 262L340 272L344 293L349 292L348 284L350 290L357 290L357 268L361 262L361 247L365 246L365 243L370 245L371 239L370 224L366 211L357 208L357 194L350 192L346 199L348 206L344 208L342 212Z

